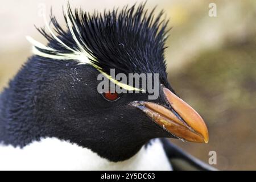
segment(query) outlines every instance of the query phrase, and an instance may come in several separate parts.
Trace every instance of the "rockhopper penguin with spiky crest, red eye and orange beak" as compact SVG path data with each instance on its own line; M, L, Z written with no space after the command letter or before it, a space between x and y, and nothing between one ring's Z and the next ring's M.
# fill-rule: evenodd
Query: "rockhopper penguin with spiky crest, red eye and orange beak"
M168 21L154 14L144 3L103 14L68 4L65 28L52 14L53 28L38 28L47 45L27 37L33 55L0 95L0 169L184 169L177 160L214 169L167 139L208 143L209 135L167 80ZM111 69L157 73L159 96L150 100ZM99 74L127 93L98 92Z

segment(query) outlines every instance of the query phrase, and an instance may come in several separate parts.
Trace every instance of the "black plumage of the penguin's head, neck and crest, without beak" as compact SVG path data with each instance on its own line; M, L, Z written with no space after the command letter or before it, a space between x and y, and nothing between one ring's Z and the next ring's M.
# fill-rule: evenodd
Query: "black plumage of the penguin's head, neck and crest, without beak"
M93 15L82 10L72 13L68 6L67 15L77 40L92 56L90 61L102 71L159 73L160 84L174 92L164 60L167 22L161 20L162 12L156 18L153 14L142 4ZM70 30L61 28L54 16L51 22L57 38L80 49ZM48 55L72 53L43 28L39 31L55 51L36 49ZM98 73L92 64L77 60L31 56L0 96L0 141L24 147L34 140L56 137L118 162L129 159L152 138L176 138L129 105L148 101L148 94L121 94L116 102L102 98L97 92ZM170 107L161 90L154 102Z

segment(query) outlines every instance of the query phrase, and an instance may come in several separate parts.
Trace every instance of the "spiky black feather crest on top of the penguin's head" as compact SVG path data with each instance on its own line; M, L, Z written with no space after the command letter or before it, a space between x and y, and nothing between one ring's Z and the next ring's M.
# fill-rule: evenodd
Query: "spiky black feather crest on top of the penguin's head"
M65 31L53 15L51 22L63 43L79 50L81 47L74 39L75 35L82 48L89 53L90 61L106 73L115 68L116 73L159 73L160 77L165 77L164 43L168 21L161 21L163 11L154 18L154 10L148 12L143 3L138 7L126 6L121 11L114 9L91 15L81 9L73 13L68 5L64 18L67 27L71 23L72 28ZM39 31L49 41L48 47L56 50L38 48L40 51L52 55L72 52L43 28Z

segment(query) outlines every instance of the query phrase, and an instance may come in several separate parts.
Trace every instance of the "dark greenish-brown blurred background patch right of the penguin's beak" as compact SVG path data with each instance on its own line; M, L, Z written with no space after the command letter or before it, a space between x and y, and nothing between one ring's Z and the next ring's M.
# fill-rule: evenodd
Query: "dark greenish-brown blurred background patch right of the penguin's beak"
M176 142L193 155L217 152L217 168L256 168L256 36L202 52L170 81L208 123L210 142ZM174 141L175 142L175 141Z

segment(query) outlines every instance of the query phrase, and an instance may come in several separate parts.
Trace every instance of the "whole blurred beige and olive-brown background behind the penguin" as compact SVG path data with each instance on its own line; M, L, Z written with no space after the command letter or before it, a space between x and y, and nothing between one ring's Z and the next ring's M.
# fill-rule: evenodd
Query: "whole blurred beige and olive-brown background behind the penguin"
M93 12L133 5L134 0L72 0L73 8ZM209 11L215 3L217 16ZM34 27L52 7L64 22L67 1L3 1L0 7L0 91L31 55L30 35L47 43ZM148 0L170 19L168 78L183 100L205 119L208 144L171 141L208 163L216 151L218 169L256 169L256 1ZM214 15L214 14L213 14ZM47 16L48 18L48 16Z

